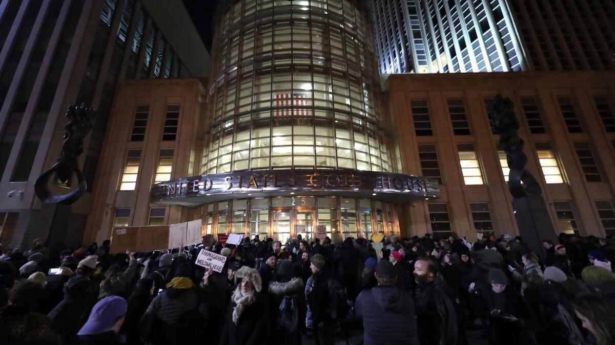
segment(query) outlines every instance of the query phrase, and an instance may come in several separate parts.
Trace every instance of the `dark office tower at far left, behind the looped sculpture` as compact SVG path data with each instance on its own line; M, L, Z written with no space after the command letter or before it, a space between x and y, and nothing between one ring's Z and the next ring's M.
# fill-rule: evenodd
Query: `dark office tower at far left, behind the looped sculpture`
M79 160L89 191L62 234L79 244L117 83L206 76L207 50L180 1L151 0L2 0L0 47L0 242L49 235L54 207L34 181L60 156L66 108L84 102L98 110Z

